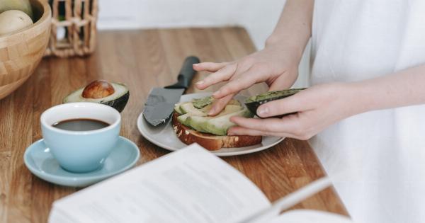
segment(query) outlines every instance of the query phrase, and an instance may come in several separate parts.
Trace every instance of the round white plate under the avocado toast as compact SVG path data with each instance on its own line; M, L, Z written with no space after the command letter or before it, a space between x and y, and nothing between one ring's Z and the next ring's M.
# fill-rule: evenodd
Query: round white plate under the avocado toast
M211 93L191 93L185 94L181 96L180 101L191 101L192 98L203 98L205 96L210 96ZM244 96L235 96L235 98L239 101L245 101ZM182 149L183 147L187 147L186 144L180 141L180 139L174 133L173 127L171 126L171 122L168 122L165 126L160 127L152 127L149 123L146 122L145 118L143 118L143 114L139 115L137 118L137 128L139 132L145 137L147 140L156 144L159 147L164 149L168 149L171 151L176 151L178 149ZM263 142L261 144L256 144L251 147L239 147L239 148L222 148L220 150L211 151L213 154L217 156L234 156L241 154L250 154L256 151L261 151L263 149L268 149L278 144L283 140L282 137L263 137Z

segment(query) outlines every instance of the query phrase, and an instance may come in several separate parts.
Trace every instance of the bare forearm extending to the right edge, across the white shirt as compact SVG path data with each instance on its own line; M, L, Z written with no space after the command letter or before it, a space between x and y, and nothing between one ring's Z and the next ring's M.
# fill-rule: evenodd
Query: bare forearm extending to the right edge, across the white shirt
M425 104L425 64L348 84L356 113Z

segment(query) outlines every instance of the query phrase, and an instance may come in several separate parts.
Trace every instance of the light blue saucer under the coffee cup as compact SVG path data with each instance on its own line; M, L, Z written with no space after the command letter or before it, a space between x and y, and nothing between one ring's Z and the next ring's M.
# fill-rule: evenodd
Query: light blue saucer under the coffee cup
M72 173L59 166L44 139L40 139L26 149L23 161L31 173L45 181L70 187L84 187L128 170L135 166L139 157L140 151L136 144L120 137L102 168L88 173Z

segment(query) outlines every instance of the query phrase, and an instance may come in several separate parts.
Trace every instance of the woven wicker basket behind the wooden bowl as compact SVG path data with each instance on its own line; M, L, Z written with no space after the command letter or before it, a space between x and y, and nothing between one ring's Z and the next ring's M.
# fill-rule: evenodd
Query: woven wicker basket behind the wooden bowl
M49 0L52 33L45 56L88 55L96 47L97 0Z

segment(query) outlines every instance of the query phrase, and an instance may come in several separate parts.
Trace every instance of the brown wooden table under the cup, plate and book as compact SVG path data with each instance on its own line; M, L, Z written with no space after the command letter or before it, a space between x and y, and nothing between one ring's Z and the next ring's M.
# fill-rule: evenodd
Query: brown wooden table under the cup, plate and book
M188 55L197 55L204 62L226 62L254 51L242 28L132 30L101 32L97 50L90 57L43 59L21 88L0 101L0 222L46 222L52 202L77 190L42 181L23 164L26 147L42 138L40 114L60 104L69 92L94 79L128 84L130 101L122 113L121 135L140 148L140 165L168 152L137 131L137 115L150 88L176 81ZM205 75L197 74L193 81ZM188 89L188 93L197 91ZM259 84L244 93L263 91L266 87ZM309 144L294 139L285 139L266 151L224 159L272 201L325 174ZM333 188L295 208L347 215Z

